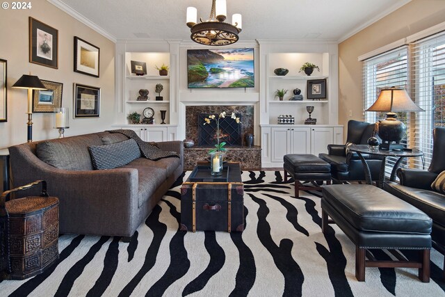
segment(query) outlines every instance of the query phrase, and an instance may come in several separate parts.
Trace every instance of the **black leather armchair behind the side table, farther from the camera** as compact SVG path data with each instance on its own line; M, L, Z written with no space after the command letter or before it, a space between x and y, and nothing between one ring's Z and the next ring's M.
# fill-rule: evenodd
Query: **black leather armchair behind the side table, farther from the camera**
M374 124L369 122L359 122L350 120L348 122L348 137L346 145L327 145L327 154L318 156L330 163L332 181L334 183L357 182L366 180L364 176L363 163L355 152L346 153L346 146L349 143L356 145L368 144L368 138L374 135ZM376 137L378 137L376 135ZM382 157L370 154L362 154L371 170L371 179L378 180Z

